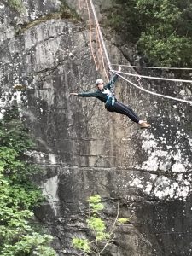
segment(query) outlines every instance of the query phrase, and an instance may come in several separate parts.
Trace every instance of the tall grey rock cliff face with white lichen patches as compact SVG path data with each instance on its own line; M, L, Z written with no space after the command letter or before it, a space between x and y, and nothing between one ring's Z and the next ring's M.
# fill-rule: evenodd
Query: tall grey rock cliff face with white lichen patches
M79 9L78 1L70 4ZM148 96L119 79L118 98L152 124L140 131L126 117L108 113L102 102L69 97L95 90L99 74L87 27L61 5L24 1L20 14L0 1L0 106L21 108L38 144L34 156L44 168L39 180L48 203L37 209L37 218L55 237L58 255L74 255L72 237L87 234L85 201L95 193L109 221L118 201L119 216L131 216L103 255L192 255L191 106ZM125 47L106 43L114 63L129 64ZM27 90L15 91L14 84ZM143 86L191 95L183 84Z

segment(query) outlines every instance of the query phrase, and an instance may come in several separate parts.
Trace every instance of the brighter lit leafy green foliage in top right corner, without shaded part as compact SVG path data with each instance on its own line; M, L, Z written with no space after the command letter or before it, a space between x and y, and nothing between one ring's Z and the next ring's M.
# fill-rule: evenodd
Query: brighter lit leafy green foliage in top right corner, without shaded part
M192 5L186 6L181 1L137 0L138 11L153 20L137 42L138 49L148 56L150 62L166 67L192 65L192 33L189 31L192 21L189 22L186 16L186 7L192 14Z

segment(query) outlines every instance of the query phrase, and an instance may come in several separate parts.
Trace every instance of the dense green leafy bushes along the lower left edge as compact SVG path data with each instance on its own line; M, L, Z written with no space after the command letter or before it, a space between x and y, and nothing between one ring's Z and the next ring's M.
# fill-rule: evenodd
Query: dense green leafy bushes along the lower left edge
M32 183L32 176L39 171L27 156L32 147L18 110L6 111L0 120L1 256L56 255L49 247L51 236L35 229L32 209L43 196Z

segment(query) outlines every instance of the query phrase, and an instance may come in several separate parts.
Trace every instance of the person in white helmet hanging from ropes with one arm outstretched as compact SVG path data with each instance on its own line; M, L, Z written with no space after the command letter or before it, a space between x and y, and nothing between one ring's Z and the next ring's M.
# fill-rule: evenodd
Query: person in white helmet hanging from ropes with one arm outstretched
M119 71L120 71L120 67L119 67ZM134 111L130 107L119 102L115 98L114 93L113 93L113 85L117 79L118 79L118 75L115 74L113 76L113 78L108 82L108 84L105 84L105 85L104 85L102 79L97 79L96 80L96 86L97 86L96 91L80 92L80 93L72 92L72 93L70 93L70 95L79 96L79 97L96 97L97 99L99 99L100 101L105 103L105 108L109 112L120 113L120 114L124 114L124 115L128 116L128 118L131 119L131 121L137 123L140 126L140 128L150 128L151 125L148 124L147 121L139 119L137 117L137 114L134 113Z

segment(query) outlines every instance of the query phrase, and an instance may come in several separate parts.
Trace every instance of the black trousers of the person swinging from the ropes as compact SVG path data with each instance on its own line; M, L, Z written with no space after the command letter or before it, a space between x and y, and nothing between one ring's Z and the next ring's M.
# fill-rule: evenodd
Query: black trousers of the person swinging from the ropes
M109 112L125 114L126 116L128 116L131 119L131 121L133 121L135 123L139 122L137 114L134 113L131 108L129 108L128 106L126 106L125 104L123 104L121 102L114 102L113 105L105 106L105 108L108 109Z

